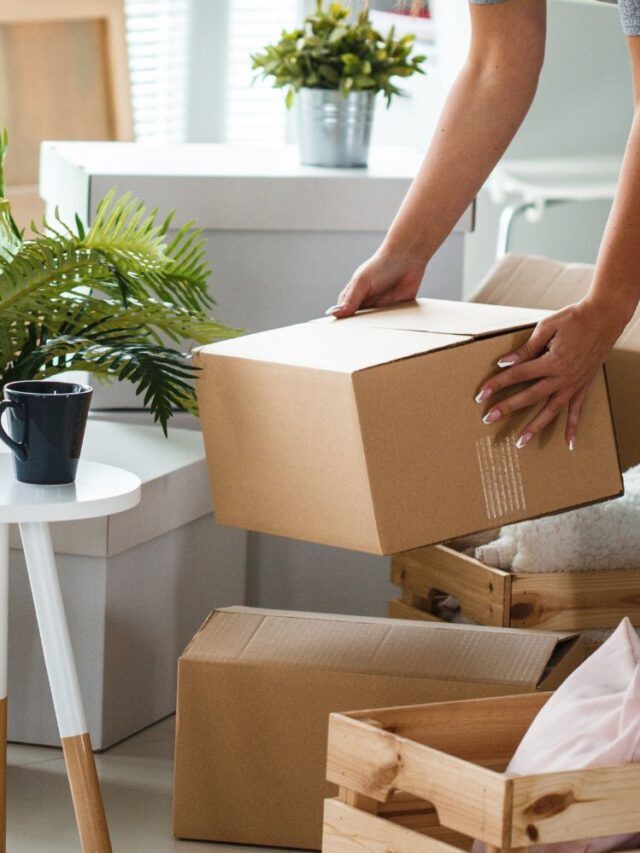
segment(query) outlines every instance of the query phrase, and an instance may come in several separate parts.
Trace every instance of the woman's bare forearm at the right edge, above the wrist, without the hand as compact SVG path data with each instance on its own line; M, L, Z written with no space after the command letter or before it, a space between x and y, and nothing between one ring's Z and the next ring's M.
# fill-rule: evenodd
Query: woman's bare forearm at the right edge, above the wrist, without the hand
M600 246L588 300L620 325L640 301L640 107L636 106L618 190Z

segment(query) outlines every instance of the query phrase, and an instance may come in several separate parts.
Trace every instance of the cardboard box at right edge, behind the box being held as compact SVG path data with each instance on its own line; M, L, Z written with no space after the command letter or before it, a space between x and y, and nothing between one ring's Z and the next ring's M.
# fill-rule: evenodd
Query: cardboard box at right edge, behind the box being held
M582 299L593 271L591 264L508 255L488 273L472 301L557 310ZM626 471L640 464L640 308L607 359L607 379Z

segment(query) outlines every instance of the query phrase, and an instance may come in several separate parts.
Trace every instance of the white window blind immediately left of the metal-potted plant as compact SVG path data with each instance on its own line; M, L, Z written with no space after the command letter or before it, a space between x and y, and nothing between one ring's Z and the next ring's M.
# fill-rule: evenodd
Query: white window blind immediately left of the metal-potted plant
M280 143L287 135L282 89L256 80L251 54L299 26L300 0L229 0L226 139L231 143Z

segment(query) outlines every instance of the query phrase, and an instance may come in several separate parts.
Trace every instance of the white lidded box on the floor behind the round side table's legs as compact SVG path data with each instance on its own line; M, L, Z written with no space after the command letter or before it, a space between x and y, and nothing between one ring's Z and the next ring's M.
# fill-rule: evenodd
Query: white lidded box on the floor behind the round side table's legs
M197 432L90 420L83 457L142 480L132 510L51 525L91 740L106 749L175 710L176 662L211 602L244 600L246 535L215 524ZM17 531L12 546L9 739L58 746Z

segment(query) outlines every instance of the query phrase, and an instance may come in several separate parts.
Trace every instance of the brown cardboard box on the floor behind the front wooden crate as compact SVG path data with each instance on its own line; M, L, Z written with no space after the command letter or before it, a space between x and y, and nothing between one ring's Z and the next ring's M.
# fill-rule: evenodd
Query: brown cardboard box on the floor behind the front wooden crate
M550 690L575 635L233 607L180 659L173 831L316 849L329 713Z

